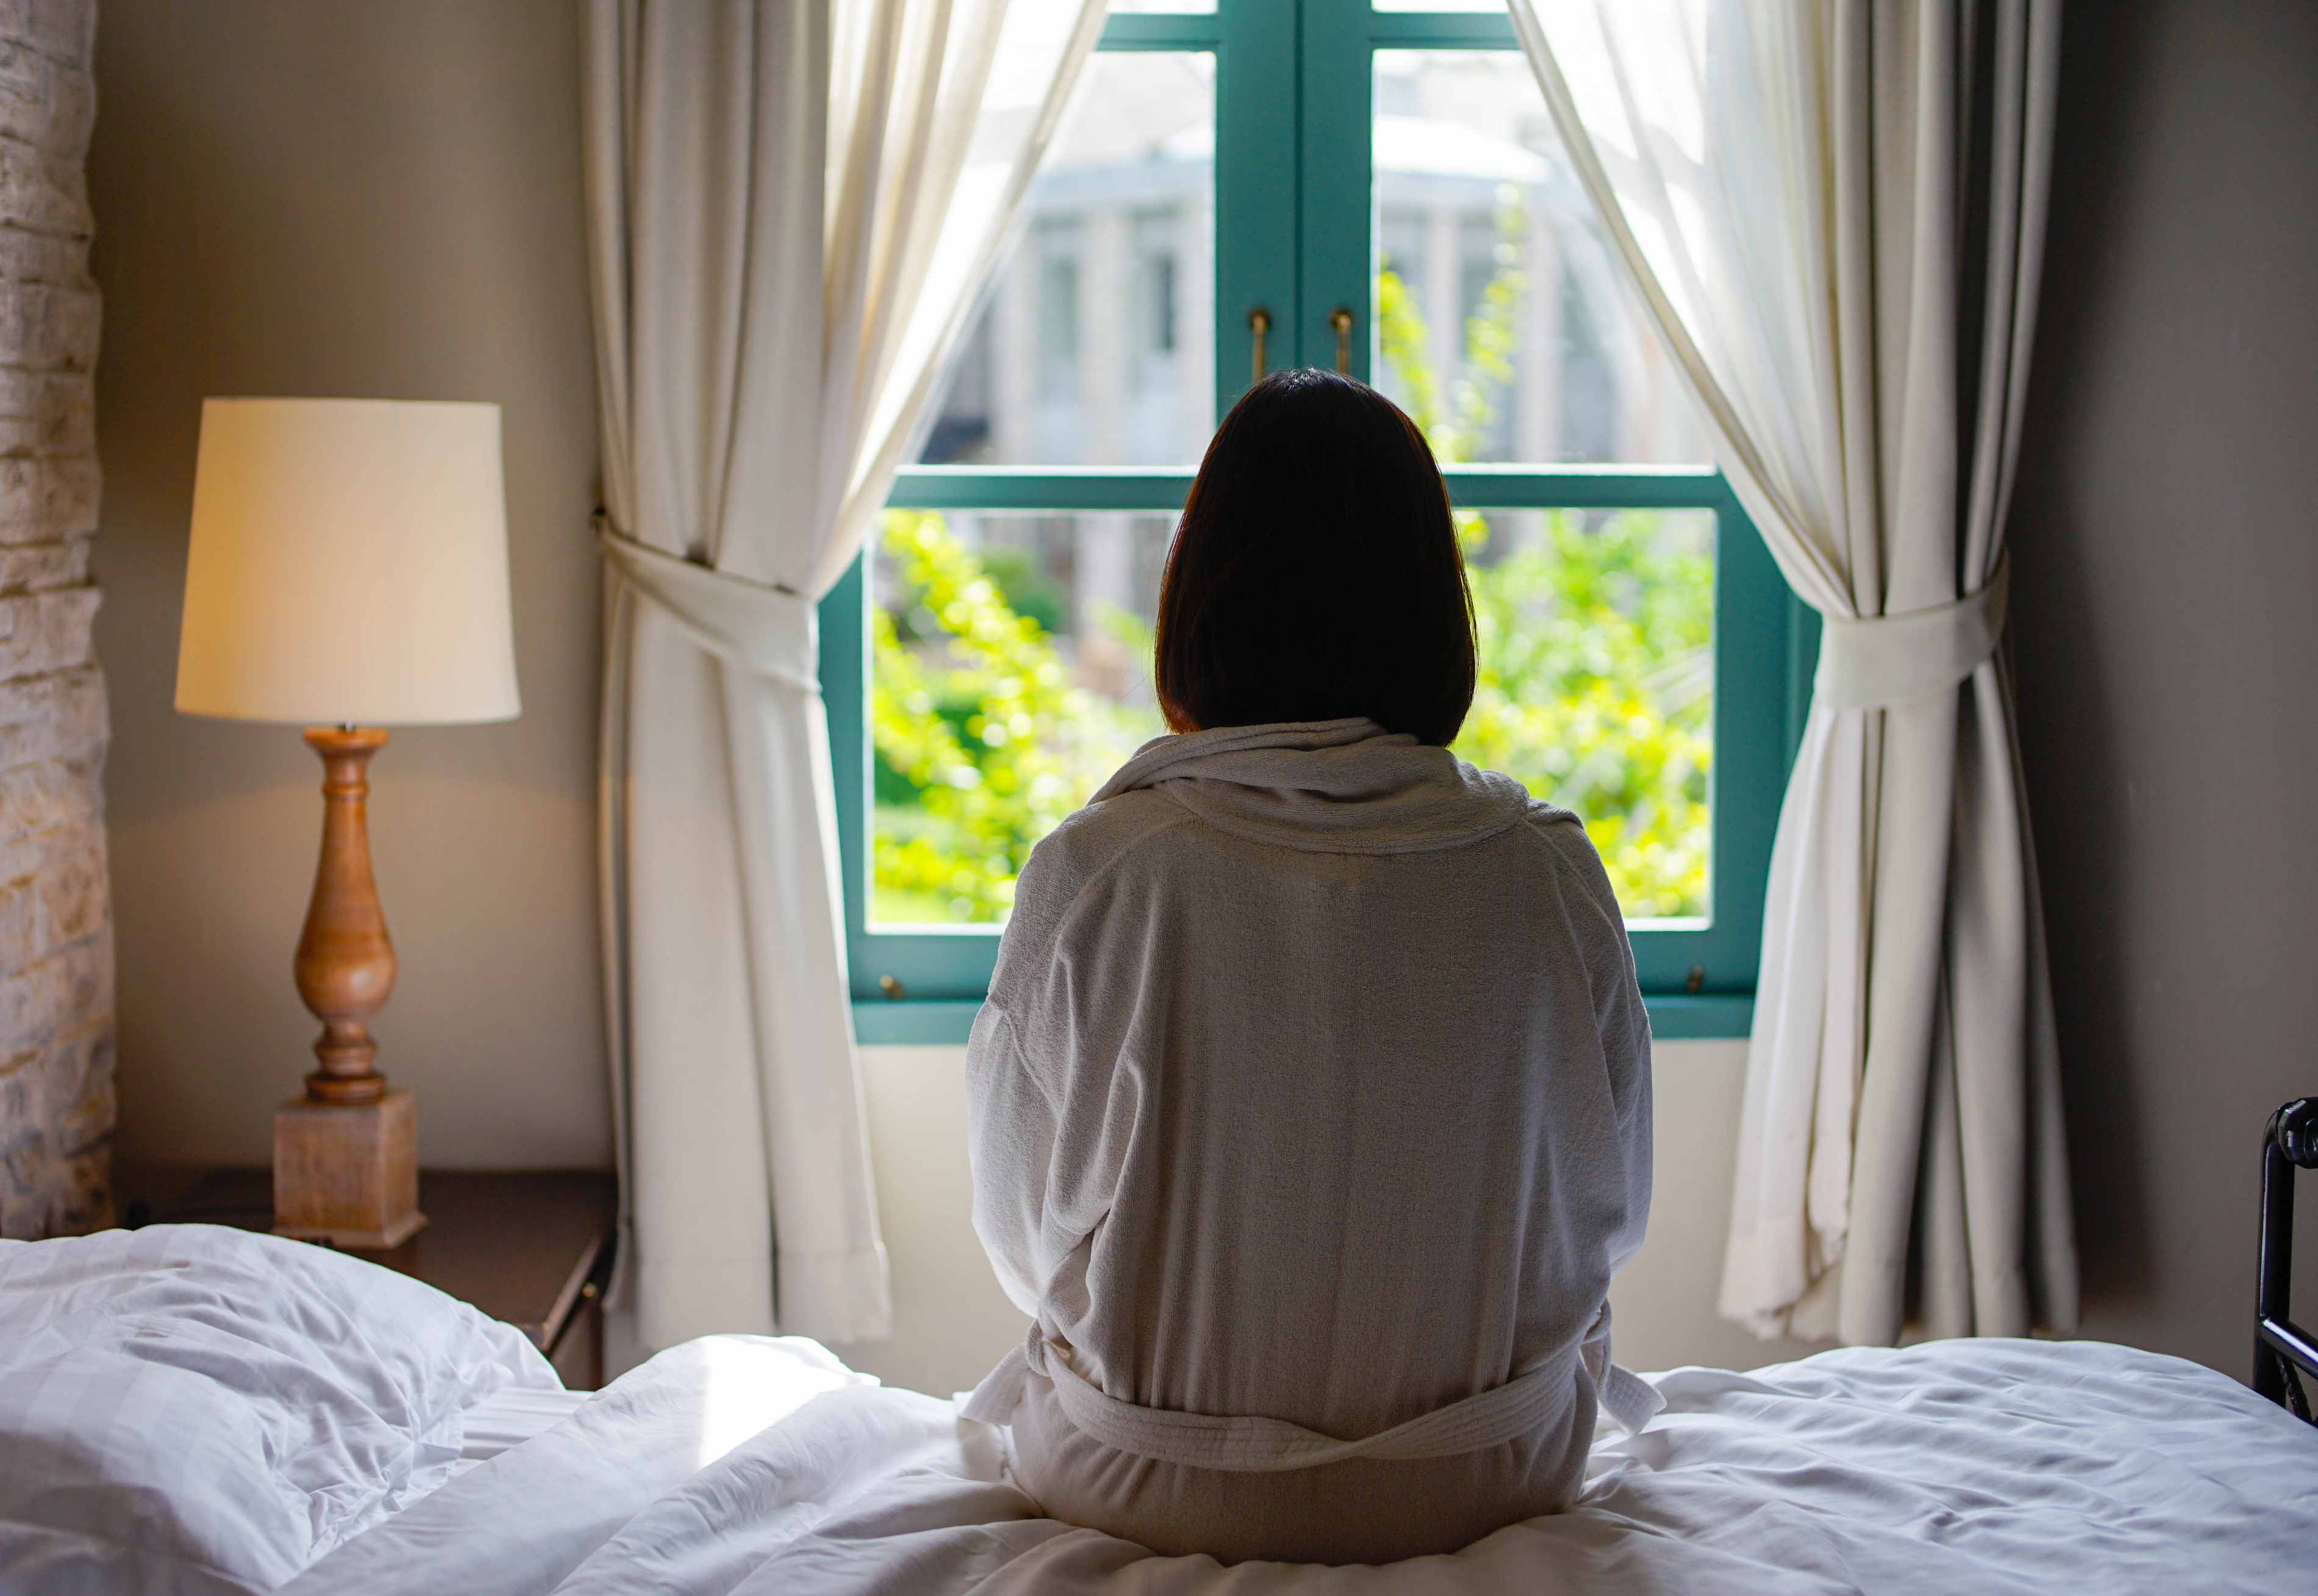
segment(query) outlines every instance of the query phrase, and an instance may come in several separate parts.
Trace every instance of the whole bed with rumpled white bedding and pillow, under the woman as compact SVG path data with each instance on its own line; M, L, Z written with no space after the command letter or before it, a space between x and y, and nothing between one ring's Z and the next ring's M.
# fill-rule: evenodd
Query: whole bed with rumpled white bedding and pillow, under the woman
M2318 1429L2095 1341L1646 1376L1574 1510L1388 1568L1164 1559L1006 1434L802 1339L566 1392L376 1265L153 1225L0 1244L0 1589L475 1596L2318 1589Z

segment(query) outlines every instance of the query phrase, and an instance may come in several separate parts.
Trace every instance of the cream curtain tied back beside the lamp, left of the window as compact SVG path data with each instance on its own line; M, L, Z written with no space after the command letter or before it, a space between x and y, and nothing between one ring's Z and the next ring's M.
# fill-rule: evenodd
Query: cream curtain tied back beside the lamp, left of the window
M814 602L1101 0L582 0L605 984L640 1337L888 1334Z

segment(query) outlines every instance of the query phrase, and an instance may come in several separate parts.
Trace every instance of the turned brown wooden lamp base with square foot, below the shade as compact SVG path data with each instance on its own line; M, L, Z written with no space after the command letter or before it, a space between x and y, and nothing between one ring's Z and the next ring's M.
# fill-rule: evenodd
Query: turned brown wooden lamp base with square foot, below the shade
M380 730L311 727L322 755L322 864L306 934L297 943L297 991L322 1022L322 1061L306 1096L274 1110L274 1235L362 1251L408 1242L420 1214L417 1103L387 1091L371 1068L369 1019L394 991L394 943L371 878L364 799Z

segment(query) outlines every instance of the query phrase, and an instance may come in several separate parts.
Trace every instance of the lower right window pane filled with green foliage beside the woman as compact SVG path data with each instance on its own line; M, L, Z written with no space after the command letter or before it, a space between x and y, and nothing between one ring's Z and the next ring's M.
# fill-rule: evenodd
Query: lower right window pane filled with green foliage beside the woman
M1711 510L1460 512L1479 672L1451 751L1576 811L1627 922L1704 920Z

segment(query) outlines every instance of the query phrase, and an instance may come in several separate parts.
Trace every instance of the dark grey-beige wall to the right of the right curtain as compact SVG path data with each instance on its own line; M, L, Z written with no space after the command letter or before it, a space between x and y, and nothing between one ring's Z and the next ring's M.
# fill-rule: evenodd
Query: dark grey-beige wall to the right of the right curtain
M2244 1376L2318 1091L2318 7L2068 16L2012 649L2086 1332Z

